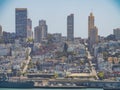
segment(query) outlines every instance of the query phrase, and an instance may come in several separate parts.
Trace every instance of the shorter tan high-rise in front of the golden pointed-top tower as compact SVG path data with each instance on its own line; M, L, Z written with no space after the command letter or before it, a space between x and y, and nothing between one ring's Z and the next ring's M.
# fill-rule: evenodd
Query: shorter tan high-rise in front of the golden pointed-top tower
M90 47L92 48L94 44L98 43L98 29L97 27L90 29L90 37L89 37Z

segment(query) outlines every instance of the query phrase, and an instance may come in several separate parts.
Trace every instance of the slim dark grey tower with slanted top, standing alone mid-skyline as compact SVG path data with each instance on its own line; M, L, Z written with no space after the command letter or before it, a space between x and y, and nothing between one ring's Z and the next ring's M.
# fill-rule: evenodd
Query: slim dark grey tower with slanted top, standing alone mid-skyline
M67 16L67 40L74 40L74 14Z

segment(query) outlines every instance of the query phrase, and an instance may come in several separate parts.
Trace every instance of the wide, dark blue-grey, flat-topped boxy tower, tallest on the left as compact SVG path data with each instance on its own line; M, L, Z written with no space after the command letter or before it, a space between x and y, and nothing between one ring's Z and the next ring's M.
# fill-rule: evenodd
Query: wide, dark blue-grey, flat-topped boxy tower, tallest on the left
M15 9L15 28L18 38L27 38L27 8Z

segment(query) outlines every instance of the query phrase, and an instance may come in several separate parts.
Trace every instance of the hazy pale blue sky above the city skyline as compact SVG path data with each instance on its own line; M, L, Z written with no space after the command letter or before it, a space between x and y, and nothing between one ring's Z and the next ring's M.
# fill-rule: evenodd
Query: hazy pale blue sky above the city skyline
M67 16L74 13L75 36L87 37L88 15L93 12L99 35L109 35L120 28L120 0L0 0L0 24L15 32L15 8L28 8L33 30L45 19L48 32L66 35Z

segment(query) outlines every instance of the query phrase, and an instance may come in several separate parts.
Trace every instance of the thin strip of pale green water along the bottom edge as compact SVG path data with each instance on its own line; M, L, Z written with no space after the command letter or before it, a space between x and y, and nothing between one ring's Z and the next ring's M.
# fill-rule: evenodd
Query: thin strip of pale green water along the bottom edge
M21 89L9 89L9 88L2 88L2 90L21 90ZM53 90L53 89L22 89L22 90ZM54 90L68 90L68 89L54 89ZM69 89L69 90L78 90L78 89ZM79 90L103 90L98 88L86 88L86 89L79 89Z

